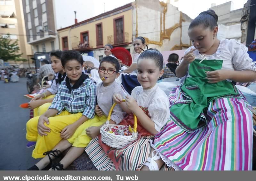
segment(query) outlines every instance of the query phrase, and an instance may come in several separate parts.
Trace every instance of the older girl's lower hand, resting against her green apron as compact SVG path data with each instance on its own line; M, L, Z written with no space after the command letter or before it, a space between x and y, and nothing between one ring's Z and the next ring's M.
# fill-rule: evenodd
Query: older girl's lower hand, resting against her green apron
M217 83L226 79L230 79L231 71L230 70L214 70L211 72L206 72L206 79L208 83Z

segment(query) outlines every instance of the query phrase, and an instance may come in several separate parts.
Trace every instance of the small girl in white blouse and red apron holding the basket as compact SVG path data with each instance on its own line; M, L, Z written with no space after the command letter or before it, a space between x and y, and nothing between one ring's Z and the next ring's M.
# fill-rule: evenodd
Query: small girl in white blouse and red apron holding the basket
M140 170L148 159L150 140L170 117L168 98L156 84L164 73L162 54L148 49L140 55L137 66L141 86L135 87L131 96L126 96L126 104L121 104L129 115L119 124L133 126L131 113L134 113L138 118L138 139L122 149L110 148L101 141L101 135L92 139L85 152L98 170ZM120 104L122 99L119 94L113 95L116 103Z

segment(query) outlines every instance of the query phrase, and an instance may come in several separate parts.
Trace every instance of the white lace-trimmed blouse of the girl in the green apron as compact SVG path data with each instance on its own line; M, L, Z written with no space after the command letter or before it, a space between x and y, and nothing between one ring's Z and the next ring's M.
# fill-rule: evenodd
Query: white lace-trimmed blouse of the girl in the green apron
M196 49L194 46L189 47L185 54L187 54L191 48ZM223 60L222 68L226 70L252 70L256 71L256 66L252 63L252 59L247 53L248 48L236 40L223 39L220 40L220 45L217 51L212 55L200 54L198 50L194 51L196 59L202 60L206 56L205 60ZM188 72L187 72L188 73ZM190 75L188 74L188 77Z

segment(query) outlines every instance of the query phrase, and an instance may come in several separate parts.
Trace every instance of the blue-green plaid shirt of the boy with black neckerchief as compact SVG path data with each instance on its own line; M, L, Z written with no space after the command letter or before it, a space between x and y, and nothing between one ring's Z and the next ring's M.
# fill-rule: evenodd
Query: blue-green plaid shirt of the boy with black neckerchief
M64 109L70 113L83 112L85 117L92 119L95 106L96 86L89 78L78 89L72 89L71 93L64 79L49 109L56 109L59 113Z

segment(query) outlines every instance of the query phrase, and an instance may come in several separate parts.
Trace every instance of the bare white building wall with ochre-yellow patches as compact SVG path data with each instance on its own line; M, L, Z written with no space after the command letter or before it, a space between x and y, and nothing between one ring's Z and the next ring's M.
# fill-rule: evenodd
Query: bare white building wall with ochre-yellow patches
M132 35L142 36L150 48L181 50L191 46L188 25L192 21L177 7L160 1L135 0L132 3Z

